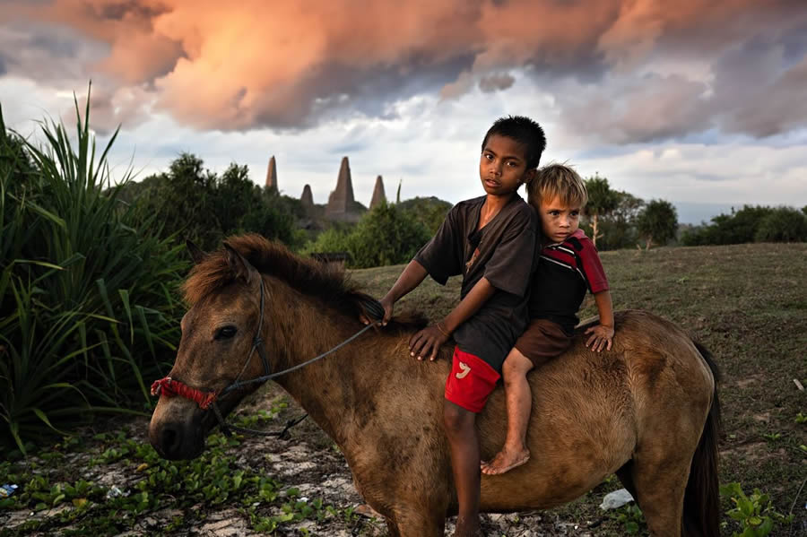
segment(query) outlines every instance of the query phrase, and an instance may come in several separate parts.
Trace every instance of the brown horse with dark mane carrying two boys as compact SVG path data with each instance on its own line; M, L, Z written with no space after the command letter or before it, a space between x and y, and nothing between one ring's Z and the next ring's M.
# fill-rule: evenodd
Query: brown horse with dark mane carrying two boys
M256 385L221 390L264 374L251 351L256 333L274 371L292 367L357 332L366 295L343 273L264 238L230 238L225 246L197 259L187 280L191 307L169 375L197 394L218 393L226 415ZM530 374L533 457L512 472L483 476L481 509L558 506L616 472L653 535L717 536L716 368L706 350L664 319L622 311L616 322L612 351L589 351L580 335ZM449 353L436 362L409 358L416 328L395 322L370 330L276 379L334 439L360 494L400 537L442 535L446 516L456 513L442 426ZM477 421L483 457L502 445L505 416L498 389ZM216 423L194 401L163 394L149 435L161 455L192 458Z

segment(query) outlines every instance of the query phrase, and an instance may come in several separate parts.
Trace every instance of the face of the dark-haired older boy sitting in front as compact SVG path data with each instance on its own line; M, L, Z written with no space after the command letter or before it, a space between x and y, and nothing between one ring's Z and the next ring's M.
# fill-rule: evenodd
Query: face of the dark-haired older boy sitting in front
M479 160L479 178L489 195L510 195L534 169L526 168L524 145L507 136L493 134Z

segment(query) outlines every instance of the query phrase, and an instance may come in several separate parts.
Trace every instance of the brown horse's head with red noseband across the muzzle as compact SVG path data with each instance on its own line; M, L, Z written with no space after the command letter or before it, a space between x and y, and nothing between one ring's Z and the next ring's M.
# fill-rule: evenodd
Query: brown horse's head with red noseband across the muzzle
M186 283L191 304L182 317L177 359L168 377L152 386L161 394L149 438L165 458L190 459L204 450L204 438L258 384L231 389L259 377L265 366L256 352L263 326L265 293L261 274L225 243L212 256L188 244L195 267ZM228 389L230 387L230 389Z

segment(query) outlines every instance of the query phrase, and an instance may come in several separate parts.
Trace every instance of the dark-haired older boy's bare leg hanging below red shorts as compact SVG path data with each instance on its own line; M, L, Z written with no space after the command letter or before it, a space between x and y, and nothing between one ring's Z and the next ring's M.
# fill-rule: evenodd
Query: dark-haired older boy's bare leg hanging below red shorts
M456 517L455 537L474 537L479 531L479 435L476 431L476 414L446 401L443 422L451 451L451 470L454 472L456 499L459 512Z

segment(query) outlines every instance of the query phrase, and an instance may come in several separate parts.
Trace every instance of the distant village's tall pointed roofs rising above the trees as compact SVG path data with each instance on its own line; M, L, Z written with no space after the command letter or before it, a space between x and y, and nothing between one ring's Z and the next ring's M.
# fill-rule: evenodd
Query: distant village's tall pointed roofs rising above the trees
M277 162L274 156L269 159L269 167L266 170L266 188L279 192L277 183ZM312 220L357 222L361 215L368 212L368 208L360 204L353 197L353 182L351 178L351 164L347 157L343 157L342 165L339 168L339 177L336 179L336 188L328 195L328 203L317 205L314 203L314 195L311 193L311 186L303 186L302 195L299 198L303 211ZM373 197L369 203L369 209L386 202L384 192L384 179L381 176L376 178L376 186L373 188Z

